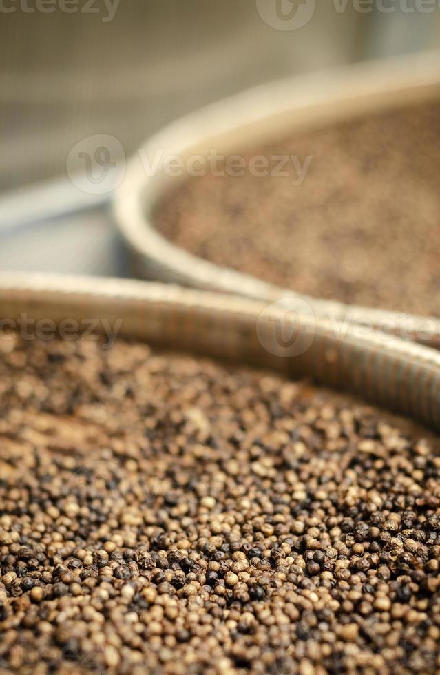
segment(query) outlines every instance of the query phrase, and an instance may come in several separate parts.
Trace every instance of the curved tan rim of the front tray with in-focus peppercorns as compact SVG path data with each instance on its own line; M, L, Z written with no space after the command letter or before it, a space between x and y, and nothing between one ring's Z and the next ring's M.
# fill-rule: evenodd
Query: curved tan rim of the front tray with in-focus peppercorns
M285 311L264 302L134 280L1 274L1 333L23 313L34 322L117 322L120 337L161 349L310 376L440 430L440 353L384 333L364 338L349 327L341 337L304 313L286 347Z

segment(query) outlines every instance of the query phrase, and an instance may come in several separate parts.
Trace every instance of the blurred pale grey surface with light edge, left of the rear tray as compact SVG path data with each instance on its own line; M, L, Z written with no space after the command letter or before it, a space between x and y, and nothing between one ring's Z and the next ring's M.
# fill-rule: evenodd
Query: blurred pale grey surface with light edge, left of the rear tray
M1 271L127 276L107 197L61 180L0 200Z

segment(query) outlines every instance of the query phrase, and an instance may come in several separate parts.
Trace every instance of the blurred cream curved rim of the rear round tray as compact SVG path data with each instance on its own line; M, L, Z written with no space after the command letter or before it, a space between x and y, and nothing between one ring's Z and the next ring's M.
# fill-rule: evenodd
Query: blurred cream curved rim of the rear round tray
M440 52L393 61L364 63L338 72L307 75L258 87L211 105L169 125L153 136L132 158L114 203L116 222L129 251L136 276L189 287L239 293L266 302L284 298L297 311L344 322L366 323L387 333L440 348L440 320L419 330L417 316L319 300L218 267L176 247L156 231L154 211L185 176L170 176L167 160L240 152L269 143L293 131L309 130L366 112L412 105L440 97Z

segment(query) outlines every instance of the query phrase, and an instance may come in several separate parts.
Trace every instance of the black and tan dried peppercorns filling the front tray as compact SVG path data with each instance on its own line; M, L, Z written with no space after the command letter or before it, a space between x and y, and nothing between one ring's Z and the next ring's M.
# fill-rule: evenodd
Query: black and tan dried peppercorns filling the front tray
M1 342L0 389L6 672L438 672L437 437L123 341Z

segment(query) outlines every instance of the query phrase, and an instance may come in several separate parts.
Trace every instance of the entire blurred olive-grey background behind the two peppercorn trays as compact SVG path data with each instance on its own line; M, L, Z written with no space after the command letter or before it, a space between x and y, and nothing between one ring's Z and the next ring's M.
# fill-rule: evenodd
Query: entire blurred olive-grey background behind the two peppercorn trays
M262 18L314 2L299 30ZM362 13L353 0L1 0L0 269L121 273L105 198L72 191L76 143L110 134L129 156L245 87L440 45L439 3L419 3L372 0Z

